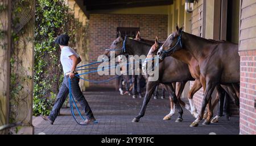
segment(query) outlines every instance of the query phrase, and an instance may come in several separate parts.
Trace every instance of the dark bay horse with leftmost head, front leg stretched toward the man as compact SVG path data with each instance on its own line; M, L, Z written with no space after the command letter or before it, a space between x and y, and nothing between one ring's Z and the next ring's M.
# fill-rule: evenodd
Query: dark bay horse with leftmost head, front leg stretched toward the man
M125 42L125 43L123 43ZM125 45L126 51L124 52L123 45ZM109 57L109 53L111 50L115 50L115 56L121 55L123 53L127 53L129 55L147 55L148 52L151 49L151 45L147 43L143 43L141 41L129 39L129 38L123 38L121 34L119 34L119 37L115 39L110 45L110 48L105 51L105 55ZM173 57L167 57L166 61L163 61L159 64L159 80L158 81L148 81L147 82L147 90L146 94L144 95L144 101L142 105L142 109L139 112L138 116L136 116L133 119L133 122L139 122L139 119L144 116L144 113L146 111L146 106L148 102L150 101L151 95L155 90L156 85L159 83L167 84L169 86L164 86L168 93L171 95L172 100L175 103L175 106L177 106L179 117L177 118L176 122L181 122L183 110L180 106L180 103L177 101L177 97L175 94L174 87L171 85L172 82L184 82L184 85L187 81L193 81L194 79L191 76L191 73L189 72L188 65L174 59ZM183 89L182 89L183 90ZM181 91L182 93L182 91ZM170 114L173 115L175 113L175 107L171 109Z

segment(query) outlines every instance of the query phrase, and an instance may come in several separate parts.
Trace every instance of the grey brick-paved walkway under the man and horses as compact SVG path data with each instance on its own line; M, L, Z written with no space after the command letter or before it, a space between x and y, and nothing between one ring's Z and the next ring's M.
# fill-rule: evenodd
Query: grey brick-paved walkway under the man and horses
M183 122L175 123L177 114L171 120L162 120L170 111L168 99L151 99L146 114L139 123L131 120L141 109L143 99L132 99L119 95L117 91L88 91L84 93L98 120L98 124L80 126L73 119L70 110L61 109L53 125L40 121L35 126L35 134L239 134L239 118L232 117L228 122L223 117L219 123L209 126L189 127L194 118L184 109ZM79 116L77 116L80 118ZM37 118L38 119L38 118ZM42 134L42 133L41 133Z

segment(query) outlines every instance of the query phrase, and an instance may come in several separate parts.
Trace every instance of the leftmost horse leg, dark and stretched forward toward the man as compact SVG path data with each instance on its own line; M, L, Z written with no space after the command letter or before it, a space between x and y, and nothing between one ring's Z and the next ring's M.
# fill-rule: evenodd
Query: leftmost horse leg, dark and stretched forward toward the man
M146 94L144 96L143 104L141 111L139 114L132 120L132 122L139 122L139 119L141 119L142 116L144 116L146 108L147 108L147 103L150 101L150 98L152 96L152 93L155 90L155 87L158 85L158 82L147 82L147 89L146 89Z

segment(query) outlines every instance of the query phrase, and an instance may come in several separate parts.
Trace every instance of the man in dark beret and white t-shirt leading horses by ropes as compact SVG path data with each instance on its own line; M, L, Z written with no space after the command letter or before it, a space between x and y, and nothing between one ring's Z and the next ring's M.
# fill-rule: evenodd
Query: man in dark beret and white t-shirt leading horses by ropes
M79 55L70 47L68 47L69 36L68 35L60 35L55 39L55 43L60 45L61 55L60 62L63 66L64 71L64 80L60 87L60 91L57 95L57 100L53 106L53 109L49 116L42 116L44 120L47 120L49 123L53 124L57 115L60 111L61 106L63 105L65 99L69 93L69 84L68 78L71 78L71 89L72 96L80 103L82 109L85 111L86 120L84 122L80 122L80 124L89 124L94 122L96 119L93 116L92 110L88 105L84 95L81 92L79 87L79 77L76 77L76 66L81 62L81 58Z

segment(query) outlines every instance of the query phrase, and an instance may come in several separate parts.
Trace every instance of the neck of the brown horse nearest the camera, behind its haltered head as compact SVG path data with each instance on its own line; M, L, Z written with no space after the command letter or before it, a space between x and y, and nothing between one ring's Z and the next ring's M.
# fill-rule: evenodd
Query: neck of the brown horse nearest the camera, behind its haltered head
M186 32L183 32L181 39L183 48L195 57L197 61L199 61L201 57L208 56L211 48L210 45L216 44L214 41L188 34Z

